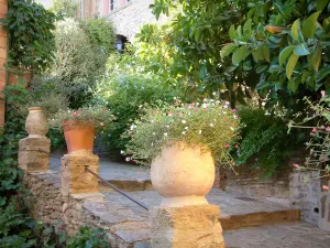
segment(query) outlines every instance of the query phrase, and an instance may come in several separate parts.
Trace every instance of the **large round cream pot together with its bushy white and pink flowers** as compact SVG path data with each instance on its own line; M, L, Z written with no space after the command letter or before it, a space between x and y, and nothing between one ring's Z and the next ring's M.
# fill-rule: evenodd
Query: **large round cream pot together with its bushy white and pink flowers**
M231 143L239 119L229 103L163 105L144 109L124 134L130 138L127 161L151 163L153 187L163 206L207 204L215 181L215 161L232 164Z

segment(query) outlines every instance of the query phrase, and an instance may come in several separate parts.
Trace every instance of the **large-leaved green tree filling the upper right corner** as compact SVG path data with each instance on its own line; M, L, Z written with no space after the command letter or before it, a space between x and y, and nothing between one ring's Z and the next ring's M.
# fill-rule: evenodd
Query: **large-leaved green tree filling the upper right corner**
M328 0L156 0L152 8L157 18L174 14L141 30L139 53L168 83L218 91L232 105L257 90L266 107L289 110L329 88Z

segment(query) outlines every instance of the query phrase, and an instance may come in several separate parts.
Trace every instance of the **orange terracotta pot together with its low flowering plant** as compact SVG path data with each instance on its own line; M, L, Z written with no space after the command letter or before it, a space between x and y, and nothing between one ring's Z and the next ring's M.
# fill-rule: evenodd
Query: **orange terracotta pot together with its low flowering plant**
M59 110L50 125L63 128L68 153L92 152L96 129L111 125L114 119L109 109L94 106Z

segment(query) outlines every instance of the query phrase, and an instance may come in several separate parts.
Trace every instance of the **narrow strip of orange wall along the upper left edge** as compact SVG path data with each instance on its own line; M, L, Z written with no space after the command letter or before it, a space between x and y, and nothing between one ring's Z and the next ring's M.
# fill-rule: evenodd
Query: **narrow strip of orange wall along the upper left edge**
M7 0L0 0L0 18L6 18L8 11ZM0 91L4 89L6 86L6 71L4 66L7 63L7 47L8 39L7 31L0 26ZM0 94L0 128L4 123L4 97Z

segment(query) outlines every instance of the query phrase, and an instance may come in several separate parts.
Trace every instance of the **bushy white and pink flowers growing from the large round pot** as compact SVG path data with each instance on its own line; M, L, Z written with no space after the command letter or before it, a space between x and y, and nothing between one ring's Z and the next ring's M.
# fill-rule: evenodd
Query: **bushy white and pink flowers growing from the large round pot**
M205 99L184 105L177 100L174 106L160 106L141 109L142 118L124 133L124 138L131 138L127 151L122 151L129 155L127 161L148 165L169 142L183 141L209 149L216 162L233 164L229 148L238 138L239 119L229 103Z

